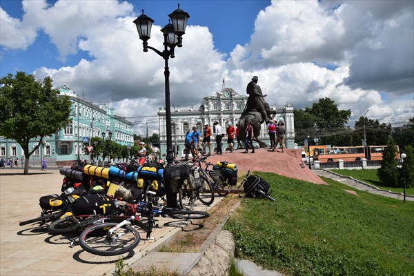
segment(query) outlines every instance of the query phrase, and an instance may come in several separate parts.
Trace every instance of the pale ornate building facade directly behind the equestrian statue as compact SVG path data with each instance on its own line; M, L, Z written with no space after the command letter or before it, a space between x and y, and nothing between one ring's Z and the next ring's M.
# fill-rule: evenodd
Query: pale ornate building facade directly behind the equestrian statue
M224 129L230 123L234 127L244 111L248 97L239 95L231 88L224 88L216 92L214 96L204 97L200 106L173 106L171 108L171 132L172 145L179 148L178 155L181 157L184 152L184 141L186 130L193 126L203 134L204 124L208 124L213 131L213 124L219 122ZM276 111L275 120L282 119L286 127L286 147L295 146L295 125L293 121L293 106L287 105L284 108L277 108L275 104L270 109ZM159 108L157 113L159 119L159 139L161 158L166 157L166 109ZM261 141L270 145L266 124L262 124L258 137ZM201 144L200 144L201 145ZM215 148L215 139L211 139L212 150ZM227 146L226 139L223 139L223 149Z

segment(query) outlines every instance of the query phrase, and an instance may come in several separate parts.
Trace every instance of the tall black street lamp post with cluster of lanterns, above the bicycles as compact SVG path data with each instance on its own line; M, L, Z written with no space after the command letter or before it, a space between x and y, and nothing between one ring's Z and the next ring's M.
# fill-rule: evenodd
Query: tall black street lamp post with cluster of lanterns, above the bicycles
M167 162L172 164L174 160L174 153L172 150L172 137L171 137L171 109L170 109L170 70L168 68L168 59L175 57L174 48L182 47L182 35L185 34L187 20L190 17L187 12L178 8L174 12L168 15L172 23L168 23L161 32L164 34L164 51L159 51L151 46L148 46L148 39L150 39L152 23L154 20L147 17L142 10L142 14L134 20L137 26L139 39L144 41L144 52L148 52L148 49L153 50L165 61L164 76L165 76L165 90L166 90L166 136L167 136Z

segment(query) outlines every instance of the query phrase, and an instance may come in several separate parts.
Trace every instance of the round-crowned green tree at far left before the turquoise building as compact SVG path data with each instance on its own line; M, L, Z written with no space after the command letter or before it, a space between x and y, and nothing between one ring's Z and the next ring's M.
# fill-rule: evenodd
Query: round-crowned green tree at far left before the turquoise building
M0 79L0 135L14 139L23 148L28 174L30 156L41 145L43 138L53 135L70 124L72 102L52 88L52 79L34 79L34 75L17 72ZM30 151L30 139L39 143Z

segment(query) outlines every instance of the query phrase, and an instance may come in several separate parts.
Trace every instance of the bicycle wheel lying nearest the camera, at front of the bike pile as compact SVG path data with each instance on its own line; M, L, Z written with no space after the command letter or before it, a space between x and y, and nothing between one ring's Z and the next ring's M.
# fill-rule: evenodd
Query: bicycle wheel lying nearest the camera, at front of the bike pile
M108 231L114 226L117 223L106 222L86 228L79 236L81 247L95 255L115 256L128 253L138 246L141 237L137 229L124 225L109 234Z

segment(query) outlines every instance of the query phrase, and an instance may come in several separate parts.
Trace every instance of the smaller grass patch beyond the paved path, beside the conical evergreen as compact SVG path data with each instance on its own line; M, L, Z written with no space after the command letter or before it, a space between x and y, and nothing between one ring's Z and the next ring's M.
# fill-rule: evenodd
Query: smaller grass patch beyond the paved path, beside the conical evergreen
M353 177L355 179L364 181L368 184L372 184L377 188L382 190L391 190L396 193L403 193L404 188L393 188L388 187L380 181L380 178L377 176L378 169L370 169L370 170L332 170L336 172L338 175L345 175L348 177ZM414 195L414 188L406 188L406 195Z

